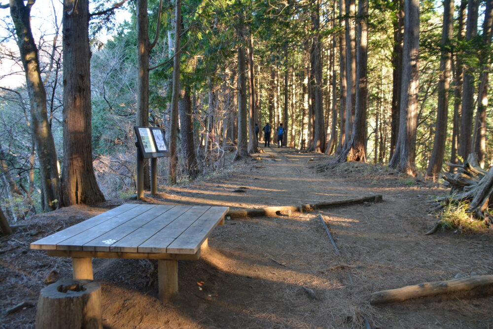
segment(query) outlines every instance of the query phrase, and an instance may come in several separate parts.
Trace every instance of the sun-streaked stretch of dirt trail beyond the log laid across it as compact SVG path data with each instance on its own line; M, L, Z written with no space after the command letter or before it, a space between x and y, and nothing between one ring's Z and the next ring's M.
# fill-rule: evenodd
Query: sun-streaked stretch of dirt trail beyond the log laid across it
M288 147L262 147L253 161L239 161L242 170L233 170L193 186L163 187L164 200L152 202L208 204L233 208L261 208L299 205L371 195L371 188L349 186L341 178L314 175L309 166L323 154L299 153ZM296 169L297 168L297 169ZM245 192L233 192L246 187Z

